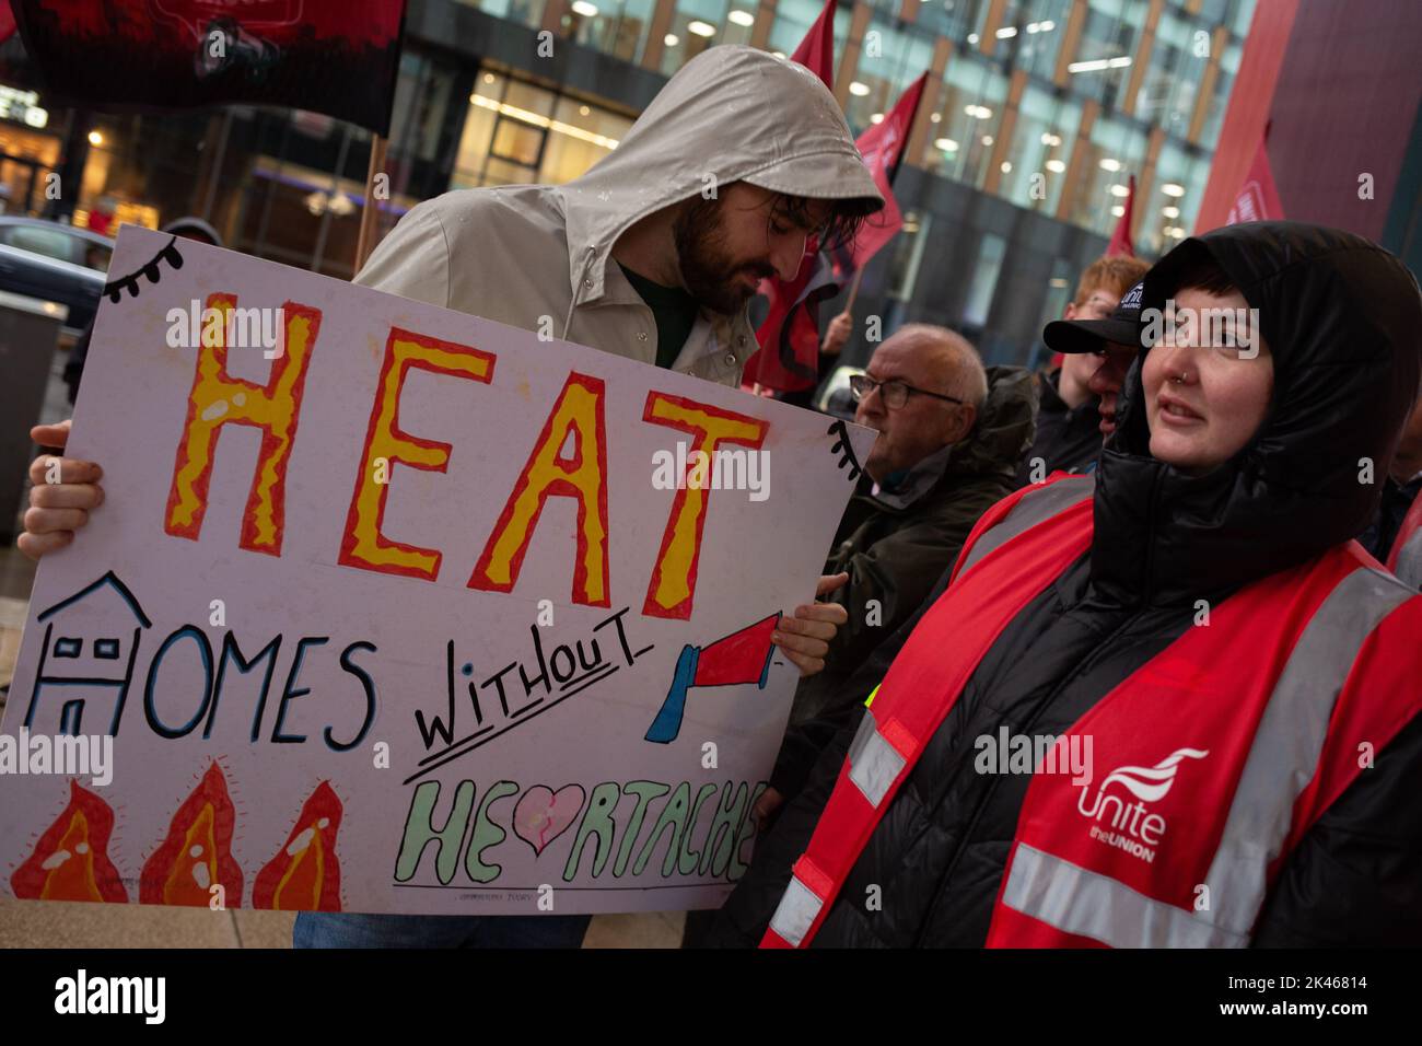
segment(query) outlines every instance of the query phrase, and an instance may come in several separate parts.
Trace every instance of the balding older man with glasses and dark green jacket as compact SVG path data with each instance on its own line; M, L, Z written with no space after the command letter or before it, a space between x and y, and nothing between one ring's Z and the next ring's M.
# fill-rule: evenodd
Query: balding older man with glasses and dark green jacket
M879 440L825 568L849 575L832 595L849 623L829 646L825 682L796 690L792 723L823 714L839 685L913 615L978 517L1012 491L1032 438L1030 374L984 371L977 350L944 327L899 329L855 387L855 420Z

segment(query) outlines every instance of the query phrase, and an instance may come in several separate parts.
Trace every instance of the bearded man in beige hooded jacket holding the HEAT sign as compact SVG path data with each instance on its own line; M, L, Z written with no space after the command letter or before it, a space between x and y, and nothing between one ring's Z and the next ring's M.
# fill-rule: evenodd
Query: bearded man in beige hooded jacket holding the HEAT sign
M778 100L774 110L766 97ZM752 48L718 47L688 63L583 178L429 201L405 216L357 283L735 386L755 347L747 302L759 279L792 276L806 235L852 235L879 206L818 78ZM374 418L371 426L374 433ZM57 448L67 434L68 423L34 430L41 445ZM37 460L21 551L38 558L70 544L102 504L101 477L95 463ZM344 549L341 562L347 555L354 552ZM842 582L822 579L819 593ZM475 586L495 588L471 579ZM799 606L779 619L772 642L801 672L818 672L843 615L836 605ZM341 665L351 672L346 655ZM574 946L586 922L306 912L296 938L310 946Z

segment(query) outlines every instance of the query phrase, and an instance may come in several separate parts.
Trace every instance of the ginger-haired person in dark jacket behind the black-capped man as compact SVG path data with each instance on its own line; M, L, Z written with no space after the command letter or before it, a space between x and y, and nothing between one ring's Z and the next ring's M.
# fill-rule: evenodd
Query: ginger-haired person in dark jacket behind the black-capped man
M1086 266L1076 283L1076 296L1066 306L1068 320L1103 320L1116 309L1126 290L1140 282L1150 266L1139 258L1113 255ZM1102 437L1111 433L1103 417L1098 377L1112 363L1101 354L1069 354L1038 384L1037 438L1022 458L1017 485L1041 482L1057 471L1089 472L1101 454Z

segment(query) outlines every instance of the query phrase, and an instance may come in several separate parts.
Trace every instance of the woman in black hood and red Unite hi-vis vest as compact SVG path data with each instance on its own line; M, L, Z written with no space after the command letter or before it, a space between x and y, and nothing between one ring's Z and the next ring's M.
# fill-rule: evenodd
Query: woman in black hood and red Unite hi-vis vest
M1095 474L983 517L710 944L1422 942L1422 595L1352 541L1418 396L1418 285L1260 222L1136 303Z

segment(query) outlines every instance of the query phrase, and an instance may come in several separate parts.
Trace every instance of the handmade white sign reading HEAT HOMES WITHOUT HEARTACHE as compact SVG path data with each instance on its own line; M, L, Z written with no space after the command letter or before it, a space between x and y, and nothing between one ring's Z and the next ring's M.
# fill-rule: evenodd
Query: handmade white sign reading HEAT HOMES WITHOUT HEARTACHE
M4 888L720 904L798 677L771 635L873 434L144 229L111 278L70 438L107 500L36 582Z

